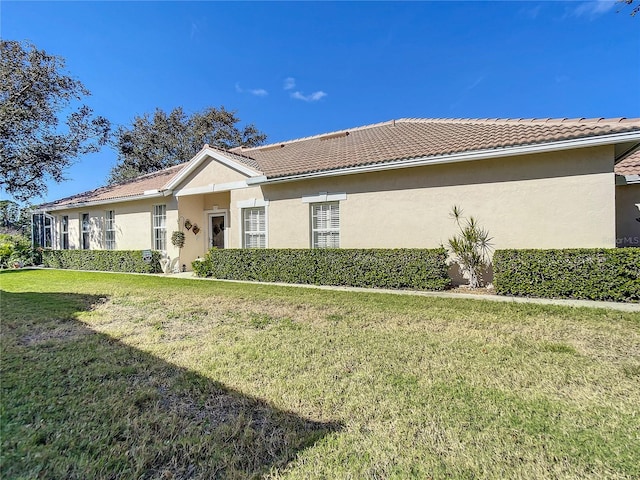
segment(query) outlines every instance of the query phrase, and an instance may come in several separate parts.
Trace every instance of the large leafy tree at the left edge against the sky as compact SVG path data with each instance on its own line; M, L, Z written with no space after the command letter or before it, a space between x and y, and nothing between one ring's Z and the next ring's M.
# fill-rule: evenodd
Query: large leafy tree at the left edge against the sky
M90 95L61 57L0 41L0 187L18 200L43 196L45 181L109 140L110 123L75 103ZM64 123L66 128L61 128Z

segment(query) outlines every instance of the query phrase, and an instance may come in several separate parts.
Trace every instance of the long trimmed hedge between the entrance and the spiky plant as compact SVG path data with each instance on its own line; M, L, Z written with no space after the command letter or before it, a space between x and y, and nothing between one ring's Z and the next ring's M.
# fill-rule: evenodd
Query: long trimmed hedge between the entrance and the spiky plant
M192 263L200 277L351 287L444 290L439 249L212 249Z

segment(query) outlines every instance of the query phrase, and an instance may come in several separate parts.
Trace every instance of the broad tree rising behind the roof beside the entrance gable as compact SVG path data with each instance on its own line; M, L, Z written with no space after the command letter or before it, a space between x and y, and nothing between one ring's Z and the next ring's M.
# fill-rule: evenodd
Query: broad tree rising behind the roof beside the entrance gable
M120 127L114 147L118 163L109 183L120 183L190 160L205 143L229 149L262 145L266 135L253 125L238 128L236 112L209 107L188 116L182 107L169 114L158 108L153 115L136 117L130 127Z

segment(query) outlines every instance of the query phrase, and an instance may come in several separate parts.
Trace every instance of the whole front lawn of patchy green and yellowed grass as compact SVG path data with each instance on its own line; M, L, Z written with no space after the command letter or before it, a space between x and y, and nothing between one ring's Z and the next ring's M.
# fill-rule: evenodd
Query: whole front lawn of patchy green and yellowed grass
M640 315L0 274L2 478L640 478Z

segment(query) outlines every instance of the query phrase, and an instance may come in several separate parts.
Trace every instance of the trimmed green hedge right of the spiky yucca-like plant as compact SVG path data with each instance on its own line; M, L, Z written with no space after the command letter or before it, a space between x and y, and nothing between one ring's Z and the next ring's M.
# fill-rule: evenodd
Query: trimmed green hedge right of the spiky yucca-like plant
M640 300L640 248L497 250L493 273L500 295Z

